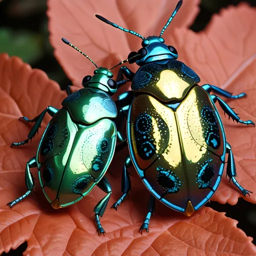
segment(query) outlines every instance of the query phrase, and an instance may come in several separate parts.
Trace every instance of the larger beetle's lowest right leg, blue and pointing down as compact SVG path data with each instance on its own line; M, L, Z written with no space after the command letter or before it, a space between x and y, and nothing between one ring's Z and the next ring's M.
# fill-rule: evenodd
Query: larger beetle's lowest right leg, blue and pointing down
M244 189L238 181L235 179L236 175L236 169L235 169L235 162L234 162L234 156L232 153L232 149L229 143L226 143L226 152L228 153L227 157L227 166L226 166L226 175L229 177L229 182L232 180L233 184L242 192L242 194L245 196L246 194L250 195L249 193L252 193L251 191L248 191Z

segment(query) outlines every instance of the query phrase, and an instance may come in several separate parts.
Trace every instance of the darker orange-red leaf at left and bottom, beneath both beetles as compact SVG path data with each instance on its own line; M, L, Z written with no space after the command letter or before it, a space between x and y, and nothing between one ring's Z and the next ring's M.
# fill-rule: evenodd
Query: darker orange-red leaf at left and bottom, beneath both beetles
M36 179L38 195L9 209L5 204L26 190L25 163L35 155L40 138L37 135L31 144L10 148L13 140L24 139L31 128L18 121L18 117L33 117L47 105L59 107L64 93L42 71L32 70L19 58L8 58L6 54L0 55L0 80L0 102L4 102L0 104L0 253L16 248L23 241L28 243L23 254L32 256L256 253L252 239L236 227L237 221L207 207L188 218L157 202L150 232L141 235L138 229L146 213L149 192L141 185L134 169L131 169L130 198L118 211L107 207L103 215L105 236L96 234L91 217L94 205L104 195L97 187L75 205L54 210ZM121 152L115 157L119 162L113 162L107 175L113 187L109 205L120 194L120 171L117 170L121 170L125 154ZM37 177L35 168L32 172Z

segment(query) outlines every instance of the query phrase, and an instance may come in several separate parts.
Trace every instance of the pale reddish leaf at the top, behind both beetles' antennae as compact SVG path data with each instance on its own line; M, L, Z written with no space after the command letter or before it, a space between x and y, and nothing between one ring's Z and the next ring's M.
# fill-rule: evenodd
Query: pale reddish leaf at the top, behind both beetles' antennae
M187 27L192 23L198 12L198 2L183 2L168 33L173 27ZM95 14L103 15L143 36L158 35L176 3L177 0L48 0L50 42L54 47L54 55L73 84L80 86L82 78L92 73L94 67L82 55L67 49L61 37L66 37L86 52L96 64L110 68L125 59L131 50L137 50L141 39L110 27L95 18Z

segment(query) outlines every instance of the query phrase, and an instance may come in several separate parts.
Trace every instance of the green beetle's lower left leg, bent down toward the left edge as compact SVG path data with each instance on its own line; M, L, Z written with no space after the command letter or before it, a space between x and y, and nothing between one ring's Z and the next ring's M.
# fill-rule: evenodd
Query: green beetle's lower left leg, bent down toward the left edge
M34 178L32 173L30 172L30 168L36 167L36 158L35 156L32 157L27 163L26 163L26 169L25 169L25 184L27 191L22 194L20 197L16 198L15 200L8 202L7 205L10 205L10 208L15 205L16 203L20 202L24 198L26 198L33 190L34 186Z

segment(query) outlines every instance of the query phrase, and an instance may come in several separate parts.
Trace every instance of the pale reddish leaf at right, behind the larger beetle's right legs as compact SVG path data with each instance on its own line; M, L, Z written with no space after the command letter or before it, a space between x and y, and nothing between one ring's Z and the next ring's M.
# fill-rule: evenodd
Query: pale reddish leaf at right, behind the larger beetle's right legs
M239 18L237 18L239 17ZM205 31L194 33L187 29L175 29L169 38L179 53L179 60L195 70L200 84L210 83L234 93L244 91L247 98L225 100L243 120L256 122L256 8L242 3L230 6L213 16ZM218 104L216 104L218 105ZM222 178L212 200L235 204L239 197L256 202L255 128L233 123L218 107L224 123L227 141L236 159L237 180L252 191L244 197L232 182Z

